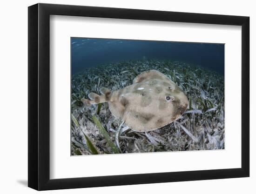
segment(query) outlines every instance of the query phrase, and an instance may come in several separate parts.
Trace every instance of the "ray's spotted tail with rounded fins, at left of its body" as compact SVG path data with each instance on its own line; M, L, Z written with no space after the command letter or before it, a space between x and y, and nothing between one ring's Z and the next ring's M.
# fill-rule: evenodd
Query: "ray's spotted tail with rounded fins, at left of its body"
M86 107L90 107L92 104L100 104L102 102L110 101L112 92L108 88L101 87L100 93L102 95L91 92L88 95L90 100L83 98L81 101L85 104Z

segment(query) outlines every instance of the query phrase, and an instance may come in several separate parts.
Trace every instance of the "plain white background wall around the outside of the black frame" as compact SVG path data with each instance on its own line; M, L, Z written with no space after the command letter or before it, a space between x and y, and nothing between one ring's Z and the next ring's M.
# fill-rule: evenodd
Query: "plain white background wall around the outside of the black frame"
M255 193L256 67L253 56L256 12L253 0L40 0L41 3L123 7L177 12L250 16L250 178L187 181L118 187L47 191L44 193ZM0 9L0 191L35 193L27 188L27 7L36 0L2 1ZM235 96L234 96L235 97ZM235 121L234 121L235 122Z

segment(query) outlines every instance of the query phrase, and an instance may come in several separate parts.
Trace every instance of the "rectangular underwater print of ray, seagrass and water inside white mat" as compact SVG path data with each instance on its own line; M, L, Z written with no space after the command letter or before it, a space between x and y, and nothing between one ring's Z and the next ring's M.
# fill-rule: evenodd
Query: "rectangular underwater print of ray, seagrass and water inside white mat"
M71 155L225 148L224 44L70 45Z

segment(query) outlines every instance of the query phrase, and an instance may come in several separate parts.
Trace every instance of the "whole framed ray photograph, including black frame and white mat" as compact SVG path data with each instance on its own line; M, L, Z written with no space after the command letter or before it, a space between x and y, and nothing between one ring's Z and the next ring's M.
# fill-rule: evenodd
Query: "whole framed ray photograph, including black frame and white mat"
M28 7L28 187L249 176L249 17Z

